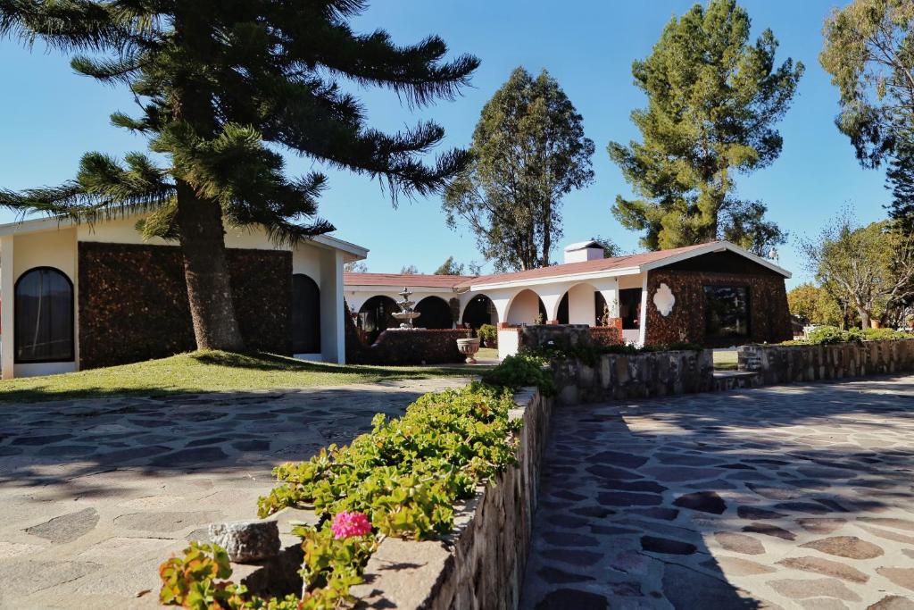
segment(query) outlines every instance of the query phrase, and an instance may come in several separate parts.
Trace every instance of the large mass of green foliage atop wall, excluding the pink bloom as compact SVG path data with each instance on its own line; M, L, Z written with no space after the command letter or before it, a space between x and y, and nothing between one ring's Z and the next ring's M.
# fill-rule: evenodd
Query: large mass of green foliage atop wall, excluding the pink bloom
M455 499L515 463L510 391L473 383L420 397L403 417L378 413L370 433L331 444L306 462L273 469L282 485L258 501L260 517L303 503L328 517L364 512L382 534L417 540L451 530Z

